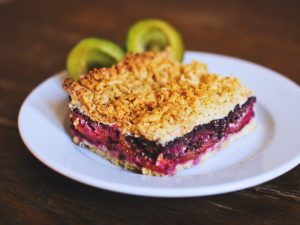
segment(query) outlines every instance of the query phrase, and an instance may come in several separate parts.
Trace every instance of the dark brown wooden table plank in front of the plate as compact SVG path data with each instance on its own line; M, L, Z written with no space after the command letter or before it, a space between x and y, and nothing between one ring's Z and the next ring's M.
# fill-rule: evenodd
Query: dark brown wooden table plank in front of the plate
M3 224L282 224L283 217L298 224L300 219L299 168L230 194L144 198L88 187L53 172L33 158L15 130L0 128L0 147Z

